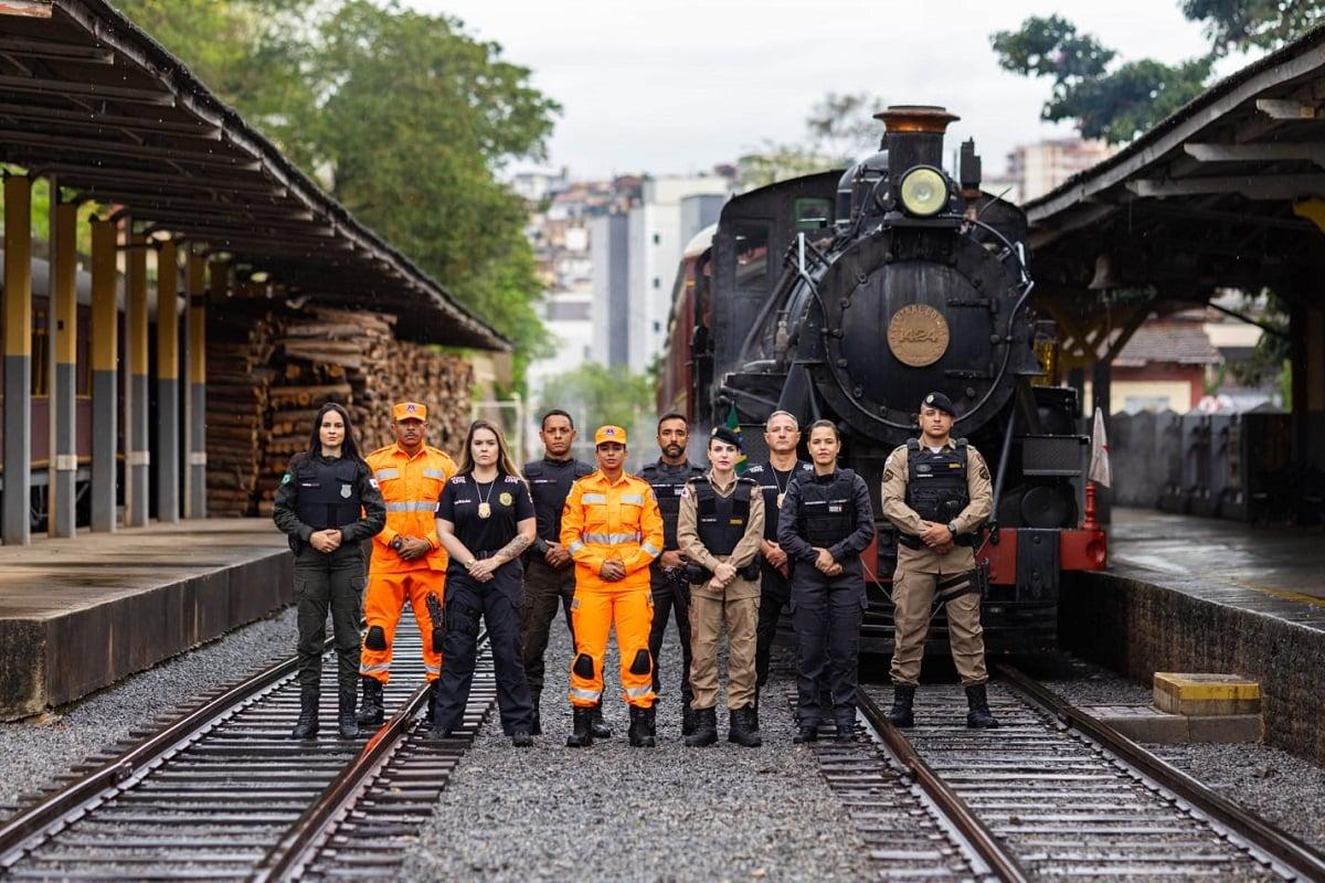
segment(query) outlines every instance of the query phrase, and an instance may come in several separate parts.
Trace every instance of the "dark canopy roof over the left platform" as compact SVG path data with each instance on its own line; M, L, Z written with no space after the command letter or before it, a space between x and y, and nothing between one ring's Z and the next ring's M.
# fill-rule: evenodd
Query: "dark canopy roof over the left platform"
M401 338L510 349L105 0L0 0L0 162Z

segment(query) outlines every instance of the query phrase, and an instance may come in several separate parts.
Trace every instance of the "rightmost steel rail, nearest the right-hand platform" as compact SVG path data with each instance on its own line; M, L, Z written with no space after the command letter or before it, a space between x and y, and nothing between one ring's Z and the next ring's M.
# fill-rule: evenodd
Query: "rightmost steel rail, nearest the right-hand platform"
M1216 794L1177 767L1155 757L1109 724L1092 718L1076 706L1055 695L1016 667L1004 663L995 666L995 669L1006 683L1011 684L1044 712L1094 740L1134 770L1154 780L1162 788L1191 804L1200 813L1224 825L1238 837L1252 843L1275 860L1281 862L1295 874L1301 875L1302 879L1325 880L1325 854L1312 849L1288 831L1283 831L1256 818L1228 798Z

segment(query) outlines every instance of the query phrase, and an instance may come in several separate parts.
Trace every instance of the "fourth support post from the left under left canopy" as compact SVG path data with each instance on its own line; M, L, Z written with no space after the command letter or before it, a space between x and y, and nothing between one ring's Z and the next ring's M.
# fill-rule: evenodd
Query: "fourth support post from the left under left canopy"
M126 221L125 344L129 349L125 377L125 524L144 527L148 515L148 401L147 401L147 237L132 233Z

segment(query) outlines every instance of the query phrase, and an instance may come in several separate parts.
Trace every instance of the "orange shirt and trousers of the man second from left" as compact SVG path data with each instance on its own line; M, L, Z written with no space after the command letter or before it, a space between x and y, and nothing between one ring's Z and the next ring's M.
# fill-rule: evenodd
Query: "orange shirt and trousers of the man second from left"
M440 604L447 586L447 549L437 539L435 511L443 486L456 474L456 463L436 447L424 445L409 457L400 445L379 447L367 457L372 478L387 502L387 527L372 537L368 592L363 601L368 633L363 639L359 674L387 683L391 676L391 646L405 598L423 635L423 665L428 680L441 674L441 653L432 646L428 593ZM421 536L432 551L405 561L391 548L398 534ZM374 629L380 631L375 633Z

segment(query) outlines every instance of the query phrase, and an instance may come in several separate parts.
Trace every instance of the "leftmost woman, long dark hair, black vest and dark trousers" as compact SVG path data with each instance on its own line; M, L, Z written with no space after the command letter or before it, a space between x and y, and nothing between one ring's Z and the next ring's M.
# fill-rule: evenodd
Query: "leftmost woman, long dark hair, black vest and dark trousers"
M295 454L276 491L273 519L294 549L294 600L299 621L299 723L292 736L318 732L322 642L327 609L335 629L341 735L354 739L359 682L359 618L366 572L360 540L387 523L387 507L359 457L344 408L327 402L313 418L309 449Z

